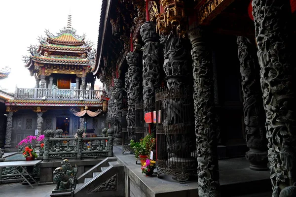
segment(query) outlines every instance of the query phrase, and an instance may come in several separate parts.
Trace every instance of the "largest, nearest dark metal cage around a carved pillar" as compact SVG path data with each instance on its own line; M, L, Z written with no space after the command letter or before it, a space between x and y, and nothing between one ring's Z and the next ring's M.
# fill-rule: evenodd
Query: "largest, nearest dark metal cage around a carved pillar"
M181 183L197 171L192 91L156 92L157 169Z

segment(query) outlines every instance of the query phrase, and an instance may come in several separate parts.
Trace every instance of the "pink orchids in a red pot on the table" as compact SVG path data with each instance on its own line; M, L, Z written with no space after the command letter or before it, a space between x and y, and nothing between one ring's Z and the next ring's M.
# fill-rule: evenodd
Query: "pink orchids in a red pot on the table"
M37 157L35 147L36 142L41 142L44 139L44 135L34 136L29 135L25 139L21 140L16 147L25 146L25 150L23 151L24 157Z

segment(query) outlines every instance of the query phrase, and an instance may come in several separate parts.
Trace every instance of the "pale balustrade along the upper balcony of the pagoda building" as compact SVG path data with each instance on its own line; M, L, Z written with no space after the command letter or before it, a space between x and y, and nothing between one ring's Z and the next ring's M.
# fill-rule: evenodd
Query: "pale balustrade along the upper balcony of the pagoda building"
M98 100L102 90L16 88L14 99Z

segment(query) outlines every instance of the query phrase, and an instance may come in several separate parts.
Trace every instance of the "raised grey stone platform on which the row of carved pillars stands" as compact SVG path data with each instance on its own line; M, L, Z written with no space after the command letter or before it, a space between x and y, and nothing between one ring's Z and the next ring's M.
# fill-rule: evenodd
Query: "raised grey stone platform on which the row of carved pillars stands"
M180 184L170 175L160 174L157 178L154 174L146 177L141 172L141 165L136 164L134 155L129 153L122 155L121 146L114 146L113 152L118 158L118 163L125 165L126 197L171 197L172 195L198 197L197 180ZM271 196L269 171L250 170L249 162L245 158L221 160L219 168L222 197L239 197L256 193L267 193L268 197Z

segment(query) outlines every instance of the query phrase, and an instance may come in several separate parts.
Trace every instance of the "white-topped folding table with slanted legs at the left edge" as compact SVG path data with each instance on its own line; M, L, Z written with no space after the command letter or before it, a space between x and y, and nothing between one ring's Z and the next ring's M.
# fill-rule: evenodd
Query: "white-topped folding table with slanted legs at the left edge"
M24 178L25 181L27 181L27 183L33 188L33 185L30 183L30 181L28 181L28 179L26 179L26 177L16 168L18 166L20 166L26 174L28 174L30 176L30 178L32 178L32 180L37 183L37 181L27 172L27 170L24 168L24 166L31 166L31 165L36 165L39 164L40 162L42 162L42 160L34 160L34 161L18 161L18 162L0 162L0 167L14 167L16 169L16 171L18 171L18 173L20 173L20 175Z

